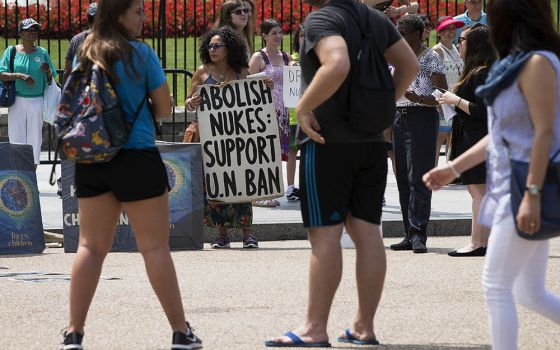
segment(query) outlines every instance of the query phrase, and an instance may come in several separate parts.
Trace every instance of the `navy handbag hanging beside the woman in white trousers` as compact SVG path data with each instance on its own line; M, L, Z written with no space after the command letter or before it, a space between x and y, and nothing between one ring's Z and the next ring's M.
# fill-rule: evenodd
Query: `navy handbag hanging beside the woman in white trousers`
M554 162L559 154L560 150L550 158L541 190L541 227L532 235L516 228L517 234L521 238L543 240L560 236L560 162ZM516 218L525 193L529 163L513 159L510 161L511 209L513 217Z

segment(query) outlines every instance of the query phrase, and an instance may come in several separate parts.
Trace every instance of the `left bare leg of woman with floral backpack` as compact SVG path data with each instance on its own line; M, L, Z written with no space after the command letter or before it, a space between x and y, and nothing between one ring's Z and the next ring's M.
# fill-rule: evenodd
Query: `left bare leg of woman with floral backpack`
M80 242L72 263L68 333L84 332L89 306L121 213L120 203L112 193L79 198L78 209Z

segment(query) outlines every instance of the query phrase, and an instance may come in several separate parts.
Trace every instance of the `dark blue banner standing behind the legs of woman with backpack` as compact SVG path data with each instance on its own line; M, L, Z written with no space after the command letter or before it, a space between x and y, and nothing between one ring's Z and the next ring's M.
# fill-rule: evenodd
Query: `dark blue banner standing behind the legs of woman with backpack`
M169 181L169 247L193 250L203 247L204 197L202 157L199 144L157 142ZM142 176L138 174L137 176ZM74 186L74 163L62 161L62 211L64 251L78 248L78 201ZM130 221L123 212L117 224L111 251L137 250Z

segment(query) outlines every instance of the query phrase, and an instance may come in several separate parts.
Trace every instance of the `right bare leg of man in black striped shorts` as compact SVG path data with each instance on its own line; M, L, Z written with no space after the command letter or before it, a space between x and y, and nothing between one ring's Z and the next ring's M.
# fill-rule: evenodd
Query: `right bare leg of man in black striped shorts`
M385 248L378 225L349 215L346 229L356 245L358 286L358 312L350 332L357 339L368 340L375 338L373 319L381 299L387 270Z

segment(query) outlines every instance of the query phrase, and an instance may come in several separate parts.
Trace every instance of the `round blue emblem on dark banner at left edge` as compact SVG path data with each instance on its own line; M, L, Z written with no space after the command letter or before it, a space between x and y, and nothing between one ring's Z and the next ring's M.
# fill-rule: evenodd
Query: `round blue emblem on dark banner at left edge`
M29 185L21 178L10 176L0 180L0 209L10 216L22 217L33 207Z

